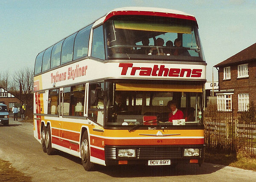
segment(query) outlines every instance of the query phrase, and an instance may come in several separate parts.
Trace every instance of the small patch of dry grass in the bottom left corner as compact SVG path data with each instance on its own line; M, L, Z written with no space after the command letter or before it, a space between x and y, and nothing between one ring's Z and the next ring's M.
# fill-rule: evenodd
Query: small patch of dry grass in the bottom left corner
M17 171L8 161L0 159L0 181L31 182L32 177Z

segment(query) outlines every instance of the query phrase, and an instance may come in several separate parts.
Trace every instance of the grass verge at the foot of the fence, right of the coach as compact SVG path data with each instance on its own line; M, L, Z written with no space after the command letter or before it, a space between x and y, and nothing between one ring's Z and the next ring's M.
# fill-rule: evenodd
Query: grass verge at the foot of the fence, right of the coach
M225 154L220 153L219 151L206 151L204 162L256 171L256 156L254 158L250 158L247 154L241 151L237 154Z

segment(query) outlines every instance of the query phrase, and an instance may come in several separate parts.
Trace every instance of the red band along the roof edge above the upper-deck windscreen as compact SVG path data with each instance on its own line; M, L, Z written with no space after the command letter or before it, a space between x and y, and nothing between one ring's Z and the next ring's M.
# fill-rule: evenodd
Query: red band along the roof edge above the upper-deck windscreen
M113 16L117 15L146 15L146 16L157 16L157 17L171 17L171 18L179 18L185 20L193 20L196 22L195 17L184 15L184 14L173 14L173 13L163 13L163 12L153 12L153 11L112 11L105 17L105 21L110 19Z

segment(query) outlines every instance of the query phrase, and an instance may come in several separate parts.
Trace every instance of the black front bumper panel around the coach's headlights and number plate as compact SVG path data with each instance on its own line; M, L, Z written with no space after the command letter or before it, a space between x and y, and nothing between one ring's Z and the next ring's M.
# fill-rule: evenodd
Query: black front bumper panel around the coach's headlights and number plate
M119 157L119 149L133 148L136 150L135 157ZM183 156L184 148L199 148L199 156ZM205 145L157 145L157 146L105 146L105 164L118 165L120 161L125 164L148 165L148 160L170 159L172 164L176 163L198 163L204 162ZM198 162L195 162L198 161Z

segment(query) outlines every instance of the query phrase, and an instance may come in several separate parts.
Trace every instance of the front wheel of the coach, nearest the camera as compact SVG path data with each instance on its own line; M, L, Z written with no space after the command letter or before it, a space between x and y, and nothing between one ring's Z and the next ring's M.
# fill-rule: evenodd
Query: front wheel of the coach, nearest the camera
M95 164L90 162L90 146L87 131L84 132L81 139L81 159L86 171L95 170Z

